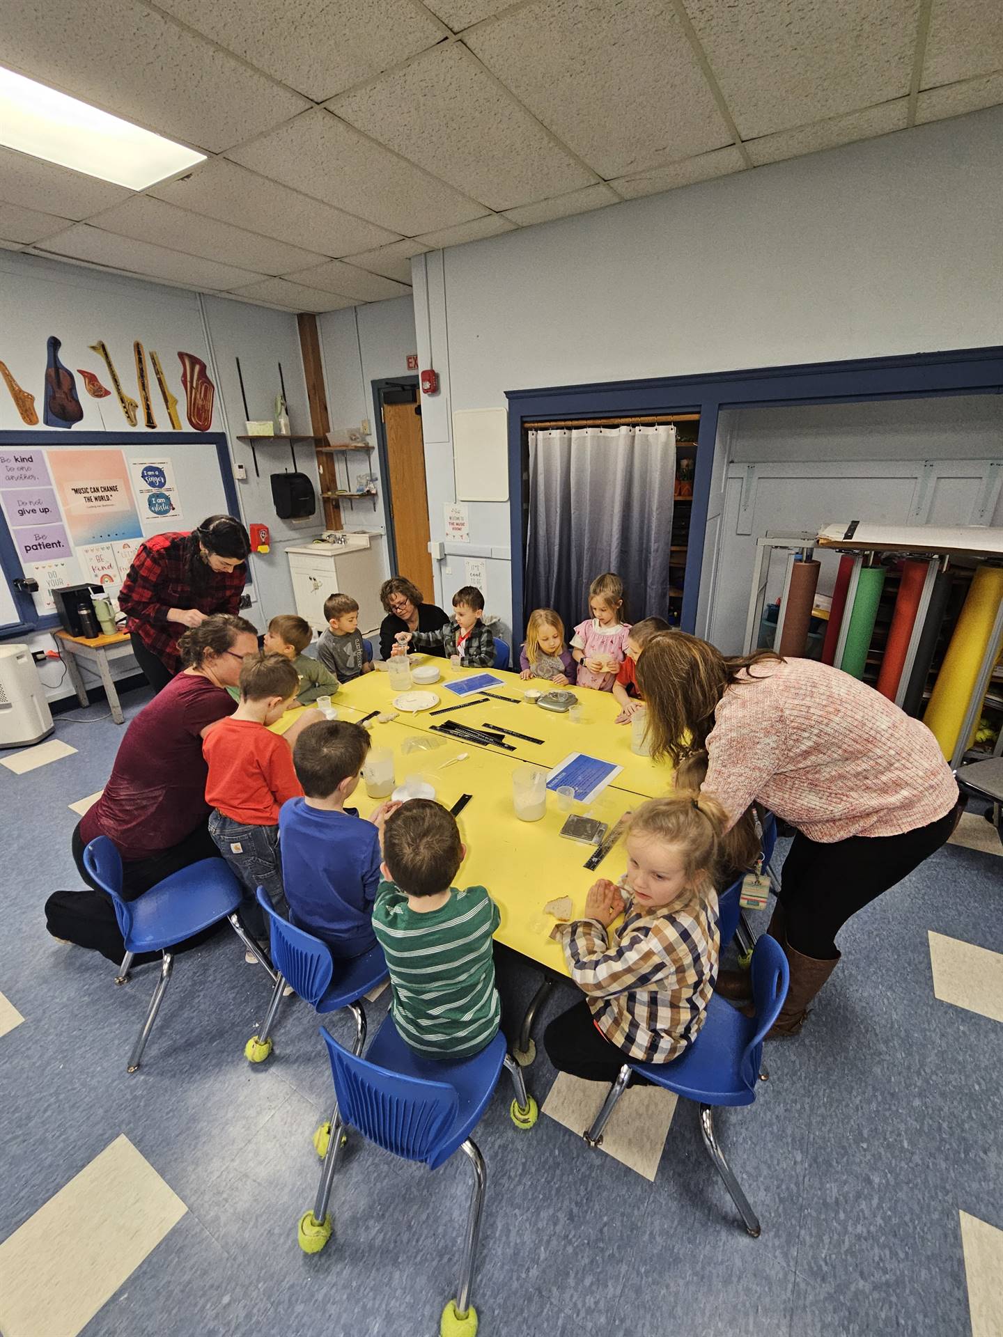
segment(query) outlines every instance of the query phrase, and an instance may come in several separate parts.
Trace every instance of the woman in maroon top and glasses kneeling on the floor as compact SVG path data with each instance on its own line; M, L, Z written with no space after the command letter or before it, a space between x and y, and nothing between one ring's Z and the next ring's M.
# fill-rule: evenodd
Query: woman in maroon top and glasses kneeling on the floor
M56 892L45 902L53 937L120 961L124 944L111 900L83 865L83 852L107 836L122 854L122 896L135 900L164 877L201 858L218 858L209 834L207 767L202 739L237 702L245 655L258 634L245 618L217 614L185 632L185 668L144 706L126 730L111 777L98 802L76 824L74 862L94 890Z

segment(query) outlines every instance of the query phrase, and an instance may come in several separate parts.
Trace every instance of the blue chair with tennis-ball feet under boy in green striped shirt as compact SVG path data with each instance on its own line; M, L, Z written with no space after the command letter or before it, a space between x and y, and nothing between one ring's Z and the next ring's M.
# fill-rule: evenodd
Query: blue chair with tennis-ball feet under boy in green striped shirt
M469 1059L425 1059L411 1050L386 1016L362 1059L350 1054L321 1027L330 1055L338 1119L364 1138L404 1161L421 1161L436 1170L459 1148L473 1169L473 1193L467 1241L456 1296L443 1310L441 1332L472 1334L477 1312L471 1305L473 1265L484 1210L487 1169L471 1132L480 1122L497 1086L502 1068L512 1078L515 1099L510 1115L516 1128L531 1128L539 1116L536 1102L526 1092L523 1072L506 1051L499 1032L480 1054ZM328 1203L341 1150L336 1127L332 1151L324 1165L313 1211L300 1221L300 1246L317 1253L332 1234Z

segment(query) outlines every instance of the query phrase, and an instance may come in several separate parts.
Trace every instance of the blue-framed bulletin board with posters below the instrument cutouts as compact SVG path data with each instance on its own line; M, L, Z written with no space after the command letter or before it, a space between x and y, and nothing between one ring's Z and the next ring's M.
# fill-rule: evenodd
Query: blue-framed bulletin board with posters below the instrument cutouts
M0 432L0 636L56 626L51 591L118 594L144 539L239 515L226 437ZM32 578L37 594L17 588Z

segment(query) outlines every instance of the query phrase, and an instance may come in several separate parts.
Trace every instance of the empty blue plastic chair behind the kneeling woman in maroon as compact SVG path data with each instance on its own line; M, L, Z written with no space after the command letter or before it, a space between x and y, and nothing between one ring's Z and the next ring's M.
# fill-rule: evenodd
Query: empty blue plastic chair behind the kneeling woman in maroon
M259 951L258 944L243 931L237 917L241 904L241 884L222 858L201 858L197 864L182 868L181 872L164 877L148 892L134 901L122 898L122 856L107 836L96 836L84 849L84 868L103 892L111 897L115 906L126 955L115 977L116 984L128 979L132 957L138 952L162 952L160 979L150 1000L139 1039L132 1046L126 1071L135 1072L139 1067L146 1042L160 1011L163 996L171 980L174 956L170 948L177 947L202 929L211 928L219 920L229 920L234 933L249 952L261 961L274 977L271 963Z

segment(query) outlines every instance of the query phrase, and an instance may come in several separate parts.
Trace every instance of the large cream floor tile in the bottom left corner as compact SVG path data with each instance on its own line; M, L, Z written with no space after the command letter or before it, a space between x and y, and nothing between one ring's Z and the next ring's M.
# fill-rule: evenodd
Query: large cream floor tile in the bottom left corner
M0 1245L0 1332L76 1337L187 1210L115 1138Z

